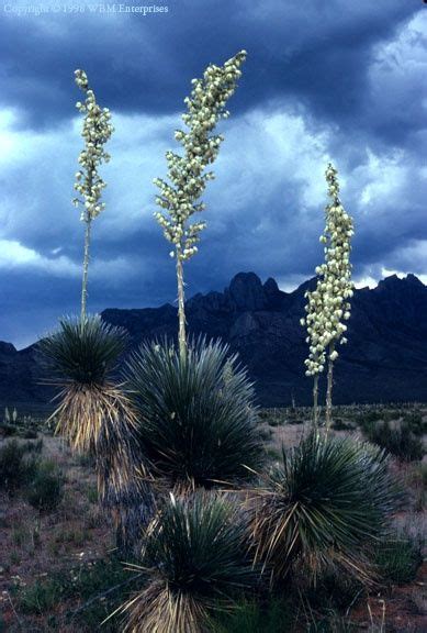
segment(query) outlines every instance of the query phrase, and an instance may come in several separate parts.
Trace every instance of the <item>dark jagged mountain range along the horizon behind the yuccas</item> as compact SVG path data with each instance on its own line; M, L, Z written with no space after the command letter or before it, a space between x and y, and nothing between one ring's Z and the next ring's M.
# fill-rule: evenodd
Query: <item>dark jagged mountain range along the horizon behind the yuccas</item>
M189 333L222 337L239 353L256 382L259 402L276 407L311 402L312 380L304 376L307 354L304 292L279 290L239 273L224 292L195 295L187 301ZM336 363L334 401L427 401L427 287L414 275L393 275L377 288L355 291L348 345ZM176 336L177 309L170 304L141 310L109 309L102 318L126 327L133 345L145 337ZM34 345L18 352L0 343L0 402L43 406L52 391L38 385Z

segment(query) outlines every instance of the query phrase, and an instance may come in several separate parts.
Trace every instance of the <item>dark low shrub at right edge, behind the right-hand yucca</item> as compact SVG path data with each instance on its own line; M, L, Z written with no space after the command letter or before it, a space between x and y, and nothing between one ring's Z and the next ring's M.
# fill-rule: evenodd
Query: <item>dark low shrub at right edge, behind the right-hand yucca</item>
M395 426L389 422L371 424L364 429L364 433L370 442L385 448L401 462L423 459L423 440L414 435L405 422Z

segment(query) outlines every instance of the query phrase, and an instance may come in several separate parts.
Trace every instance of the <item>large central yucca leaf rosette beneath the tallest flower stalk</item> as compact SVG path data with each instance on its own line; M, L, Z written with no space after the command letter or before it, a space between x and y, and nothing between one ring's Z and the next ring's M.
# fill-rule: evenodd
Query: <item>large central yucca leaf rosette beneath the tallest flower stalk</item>
M247 467L259 465L252 386L227 345L199 338L182 358L167 341L144 343L125 376L143 454L161 477L210 487L247 478Z

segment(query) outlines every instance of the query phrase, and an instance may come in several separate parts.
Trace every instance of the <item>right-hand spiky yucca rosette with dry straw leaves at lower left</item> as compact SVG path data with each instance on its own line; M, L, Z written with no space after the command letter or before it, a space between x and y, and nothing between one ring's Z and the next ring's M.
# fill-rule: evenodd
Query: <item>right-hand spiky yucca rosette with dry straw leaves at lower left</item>
M256 491L255 558L272 581L296 568L312 580L336 568L368 581L367 553L398 498L383 451L313 432L283 449L282 463Z

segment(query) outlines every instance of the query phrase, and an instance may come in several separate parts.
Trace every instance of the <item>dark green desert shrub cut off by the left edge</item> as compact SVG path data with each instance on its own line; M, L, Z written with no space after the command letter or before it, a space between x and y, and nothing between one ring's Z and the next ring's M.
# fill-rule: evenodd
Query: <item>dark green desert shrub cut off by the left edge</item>
M36 470L34 457L25 455L25 445L10 440L0 448L0 487L11 491L24 486Z

